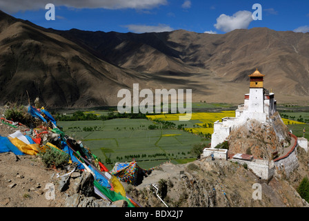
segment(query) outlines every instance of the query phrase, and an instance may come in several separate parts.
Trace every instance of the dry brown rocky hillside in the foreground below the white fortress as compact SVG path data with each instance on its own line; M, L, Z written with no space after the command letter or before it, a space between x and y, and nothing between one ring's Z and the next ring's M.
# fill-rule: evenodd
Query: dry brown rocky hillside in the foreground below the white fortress
M303 177L303 175L298 176L295 171L290 177L293 179L299 177L295 182L296 185L278 177L273 177L268 182L259 180L259 177L241 164L227 160L212 161L210 157L186 165L177 165L177 167L183 169L183 176L179 176L179 170L171 174L170 166L164 164L161 165L160 173L157 175L158 187L160 184L166 185L164 188L166 194L161 197L164 196L162 200L169 207L308 206L308 203L304 202L295 190L295 186ZM162 173L166 173L166 176ZM152 175L155 174L157 174L156 171ZM146 177L145 180L152 180L152 184L155 183L155 177L152 176ZM257 184L261 186L260 200L253 197L256 191L254 185ZM151 188L131 186L127 191L142 206L165 206L155 194L156 191ZM158 194L160 195L160 191Z

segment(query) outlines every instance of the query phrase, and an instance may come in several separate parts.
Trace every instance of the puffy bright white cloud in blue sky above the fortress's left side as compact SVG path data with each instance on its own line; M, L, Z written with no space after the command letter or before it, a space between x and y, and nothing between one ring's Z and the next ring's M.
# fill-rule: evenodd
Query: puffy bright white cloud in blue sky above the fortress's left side
M248 28L251 21L253 21L251 12L238 11L232 16L220 15L214 26L223 32L230 32L239 28Z

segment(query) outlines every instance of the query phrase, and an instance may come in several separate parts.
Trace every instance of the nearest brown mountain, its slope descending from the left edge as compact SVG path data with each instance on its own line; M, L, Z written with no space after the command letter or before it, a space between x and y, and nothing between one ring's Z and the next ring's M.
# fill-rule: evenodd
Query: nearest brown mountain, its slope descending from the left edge
M1 103L49 107L104 106L120 88L145 81L134 70L109 64L48 30L0 13Z

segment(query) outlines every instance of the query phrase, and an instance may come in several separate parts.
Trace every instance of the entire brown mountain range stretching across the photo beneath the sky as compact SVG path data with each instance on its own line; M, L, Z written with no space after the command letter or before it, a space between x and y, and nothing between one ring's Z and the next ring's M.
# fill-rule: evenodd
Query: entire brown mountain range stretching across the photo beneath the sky
M41 28L0 13L0 101L39 95L53 107L116 105L120 88L191 88L195 102L243 102L266 75L278 103L308 104L309 33L268 28L210 35ZM155 92L155 90L153 90Z

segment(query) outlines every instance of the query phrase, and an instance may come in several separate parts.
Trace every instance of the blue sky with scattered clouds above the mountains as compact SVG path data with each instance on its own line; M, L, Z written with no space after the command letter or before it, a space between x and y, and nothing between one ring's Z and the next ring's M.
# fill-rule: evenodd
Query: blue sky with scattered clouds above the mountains
M46 20L47 3L55 20ZM253 20L259 3L262 20ZM223 34L237 28L309 32L309 1L249 0L0 0L0 9L19 19L57 30L161 32L188 30Z

